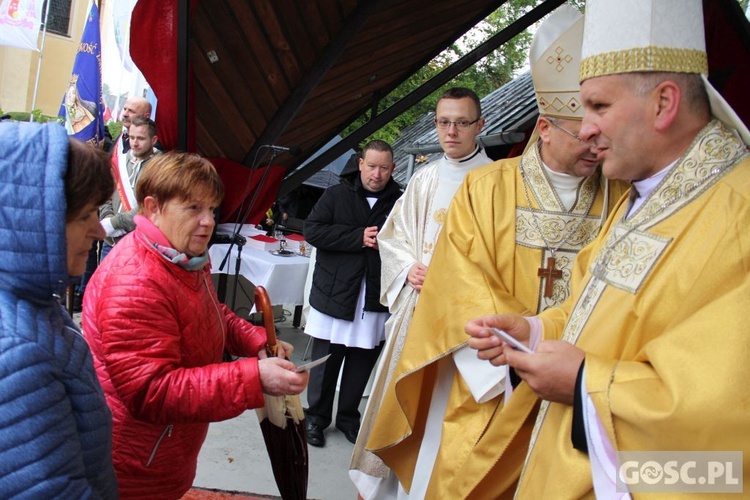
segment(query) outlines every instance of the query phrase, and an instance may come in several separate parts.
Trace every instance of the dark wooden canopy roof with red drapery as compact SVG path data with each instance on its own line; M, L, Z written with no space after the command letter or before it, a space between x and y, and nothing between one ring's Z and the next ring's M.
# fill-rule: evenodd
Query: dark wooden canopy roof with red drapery
M160 0L133 12L131 54L159 105L160 139L252 167L281 154L281 194L345 154L564 0L515 23L388 109L380 99L505 0ZM736 0L705 0L712 81L747 120L747 19ZM370 121L307 162L363 113ZM263 152L263 151L261 151ZM275 193L274 193L275 194Z

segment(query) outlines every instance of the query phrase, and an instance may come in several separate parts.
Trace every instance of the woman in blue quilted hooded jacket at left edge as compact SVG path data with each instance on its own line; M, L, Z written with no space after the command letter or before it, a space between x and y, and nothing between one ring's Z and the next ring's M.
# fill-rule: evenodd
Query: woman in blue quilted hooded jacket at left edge
M83 274L107 155L57 123L0 122L0 498L117 498L112 417L59 298Z

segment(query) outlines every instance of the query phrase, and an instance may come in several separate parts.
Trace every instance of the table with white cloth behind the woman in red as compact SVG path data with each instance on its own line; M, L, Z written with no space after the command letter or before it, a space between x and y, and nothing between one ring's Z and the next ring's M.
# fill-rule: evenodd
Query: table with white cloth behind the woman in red
M222 229L221 227L219 228ZM244 229L240 234L251 234L253 231ZM214 244L209 247L211 257L211 273L233 275L237 265L237 245L232 245L223 269L219 269L227 255L229 244ZM240 260L239 274L255 286L263 286L273 304L294 305L294 325L299 326L301 306L304 302L305 281L310 258L302 255L273 255L267 250L243 246ZM222 290L217 290L220 296ZM299 309L299 312L297 311Z

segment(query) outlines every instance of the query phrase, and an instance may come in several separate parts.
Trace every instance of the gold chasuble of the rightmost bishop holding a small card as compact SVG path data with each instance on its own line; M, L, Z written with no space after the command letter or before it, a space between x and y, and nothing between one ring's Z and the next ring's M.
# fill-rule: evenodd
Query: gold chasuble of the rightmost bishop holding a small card
M586 351L584 387L615 449L750 451L748 150L713 121L625 210L579 254L575 303L540 315L544 337ZM542 404L519 498L594 496L572 415Z

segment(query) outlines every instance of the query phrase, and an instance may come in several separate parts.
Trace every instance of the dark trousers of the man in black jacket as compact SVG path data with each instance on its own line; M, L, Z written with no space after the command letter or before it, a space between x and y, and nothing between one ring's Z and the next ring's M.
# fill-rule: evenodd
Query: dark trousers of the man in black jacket
M327 340L314 338L312 359L322 358L329 353L331 357L322 367L313 368L310 372L310 382L307 385L307 418L324 429L331 425L336 382L341 364L344 363L339 406L336 410L336 426L359 430L359 403L382 350L383 342L374 349L362 349L331 344Z

